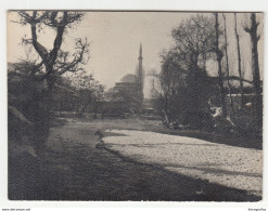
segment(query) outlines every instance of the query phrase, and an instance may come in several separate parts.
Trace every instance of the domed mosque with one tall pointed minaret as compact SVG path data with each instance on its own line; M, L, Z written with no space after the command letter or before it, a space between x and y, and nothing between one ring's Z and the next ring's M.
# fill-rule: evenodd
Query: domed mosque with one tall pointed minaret
M141 113L143 104L144 72L142 68L142 44L138 57L138 68L136 74L127 74L111 89L112 101L119 103L124 111Z

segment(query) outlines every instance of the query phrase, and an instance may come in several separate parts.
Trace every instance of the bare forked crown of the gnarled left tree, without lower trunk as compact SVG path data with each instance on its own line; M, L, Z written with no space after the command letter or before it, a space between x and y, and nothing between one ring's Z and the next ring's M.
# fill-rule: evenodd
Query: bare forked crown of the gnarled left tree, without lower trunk
M88 58L87 40L76 40L76 52L71 54L61 49L63 36L75 24L79 23L82 13L69 11L20 11L20 23L30 26L30 39L23 39L24 43L31 44L40 57L39 64L33 70L33 75L40 74L44 67L44 74L39 77L40 80L48 82L49 90L52 89L54 78L66 71L77 71L81 69L80 65L85 64ZM47 49L38 41L38 31L49 27L55 31L53 48Z

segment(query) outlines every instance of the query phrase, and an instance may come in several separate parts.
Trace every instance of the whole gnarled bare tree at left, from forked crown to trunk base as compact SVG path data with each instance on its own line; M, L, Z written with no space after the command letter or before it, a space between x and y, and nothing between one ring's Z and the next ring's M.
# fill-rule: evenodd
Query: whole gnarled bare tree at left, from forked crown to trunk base
M88 61L89 45L87 40L76 40L74 52L64 51L62 43L68 29L78 24L84 13L71 11L18 11L18 24L29 26L29 38L23 39L23 43L33 47L38 55L36 61L21 63L28 68L27 77L27 98L24 102L24 115L30 117L34 122L33 142L36 148L41 148L49 134L51 109L53 106L52 89L56 81L66 71L77 71L82 69L82 65ZM40 35L49 32L52 48L46 48L40 43ZM54 37L53 37L54 35Z

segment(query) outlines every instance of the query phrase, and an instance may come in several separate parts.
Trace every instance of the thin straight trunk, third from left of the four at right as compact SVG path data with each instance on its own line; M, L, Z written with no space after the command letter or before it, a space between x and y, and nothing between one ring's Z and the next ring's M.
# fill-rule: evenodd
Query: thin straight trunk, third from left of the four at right
M239 66L239 78L240 78L240 94L241 94L241 104L240 107L243 109L244 107L244 88L243 88L243 74L241 68L241 52L240 52L240 39L238 34L238 19L237 13L234 13L234 32L237 38L237 51L238 51L238 66Z

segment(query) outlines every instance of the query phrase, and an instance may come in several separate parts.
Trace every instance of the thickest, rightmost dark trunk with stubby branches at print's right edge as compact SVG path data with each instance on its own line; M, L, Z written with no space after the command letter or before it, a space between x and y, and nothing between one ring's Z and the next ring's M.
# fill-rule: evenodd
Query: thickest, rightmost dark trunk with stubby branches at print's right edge
M244 30L250 34L252 41L252 68L253 68L253 83L255 88L255 107L256 117L259 124L263 123L263 96L261 96L261 85L259 76L259 64L258 64L258 40L260 38L257 35L257 28L259 23L256 21L256 13L251 13L251 26L244 27Z

